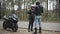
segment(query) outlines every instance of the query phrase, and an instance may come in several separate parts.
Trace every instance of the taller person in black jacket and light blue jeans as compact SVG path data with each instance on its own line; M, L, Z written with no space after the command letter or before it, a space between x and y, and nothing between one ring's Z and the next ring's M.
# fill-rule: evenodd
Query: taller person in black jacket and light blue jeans
M37 33L37 23L39 24L39 33L41 33L41 13L43 13L43 7L40 2L36 2L35 7L35 34Z

